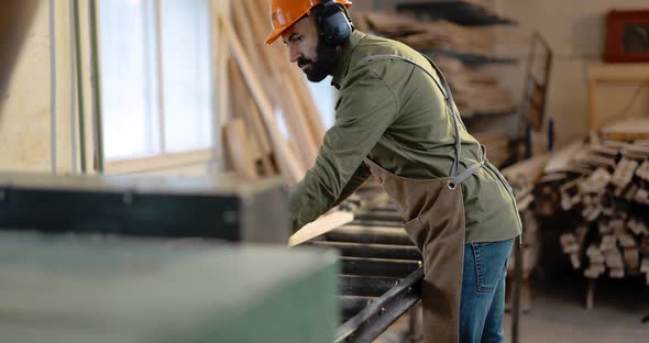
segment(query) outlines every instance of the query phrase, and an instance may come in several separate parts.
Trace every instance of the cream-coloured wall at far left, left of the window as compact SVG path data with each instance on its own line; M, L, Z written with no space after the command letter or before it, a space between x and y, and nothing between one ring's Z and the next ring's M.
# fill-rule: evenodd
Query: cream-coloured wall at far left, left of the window
M32 18L23 22L24 34L18 54L4 73L0 97L0 170L72 173L78 169L74 156L73 110L76 113L72 68L69 1L33 1ZM81 2L82 31L87 7ZM54 35L51 36L51 33ZM87 41L87 35L82 36ZM82 45L84 70L89 70L87 44ZM53 75L52 66L55 66ZM89 95L89 73L85 74ZM86 97L86 109L90 99ZM87 132L90 133L90 122ZM78 132L75 132L78 137ZM88 143L91 144L91 136ZM88 155L91 161L91 148Z

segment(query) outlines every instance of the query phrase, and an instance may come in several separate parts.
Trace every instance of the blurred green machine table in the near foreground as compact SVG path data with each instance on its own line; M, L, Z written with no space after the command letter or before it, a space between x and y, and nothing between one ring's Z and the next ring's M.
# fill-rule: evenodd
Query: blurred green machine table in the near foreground
M0 233L0 341L329 343L336 259L213 241Z

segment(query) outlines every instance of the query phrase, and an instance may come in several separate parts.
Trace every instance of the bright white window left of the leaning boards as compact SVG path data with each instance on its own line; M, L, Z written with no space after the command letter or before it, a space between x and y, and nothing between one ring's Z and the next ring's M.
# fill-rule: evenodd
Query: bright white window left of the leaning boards
M108 161L210 148L209 0L100 1Z

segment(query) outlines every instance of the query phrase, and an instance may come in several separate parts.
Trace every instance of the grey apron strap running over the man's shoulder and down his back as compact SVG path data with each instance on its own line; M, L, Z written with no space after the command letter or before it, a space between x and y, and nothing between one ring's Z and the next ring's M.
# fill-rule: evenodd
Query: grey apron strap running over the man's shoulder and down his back
M462 122L462 120L460 119L460 113L458 113L458 110L455 109L454 101L453 101L453 95L451 93L451 88L449 87L449 84L447 82L447 79L444 78L442 71L438 68L438 66L430 58L428 58L428 56L426 56L424 54L421 54L421 56L426 57L426 59L428 59L428 62L430 62L430 65L432 66L435 71L437 71L437 74L441 80L441 85L437 81L437 79L435 78L435 76L430 71L428 71L426 68L424 68L418 63L416 63L411 59L408 59L406 57L402 57L402 56L397 56L397 55L388 55L388 54L372 55L372 56L366 56L366 57L362 58L359 63L374 62L374 60L378 60L378 59L402 60L402 62L406 62L406 63L409 63L409 64L418 67L419 69L424 70L424 73L426 73L428 76L430 76L430 78L435 81L437 87L440 89L440 91L444 96L444 100L452 112L451 118L453 120L453 129L455 131L455 156L453 158L453 166L451 167L451 176L453 178L457 178L459 176L458 175L458 164L460 163L460 157L462 156L462 140L460 139L460 126L458 125L458 121ZM475 169L477 169L477 167ZM473 172L475 172L475 169ZM466 177L464 177L464 178L466 178ZM464 178L462 178L462 180ZM458 184L455 184L455 185L458 185Z

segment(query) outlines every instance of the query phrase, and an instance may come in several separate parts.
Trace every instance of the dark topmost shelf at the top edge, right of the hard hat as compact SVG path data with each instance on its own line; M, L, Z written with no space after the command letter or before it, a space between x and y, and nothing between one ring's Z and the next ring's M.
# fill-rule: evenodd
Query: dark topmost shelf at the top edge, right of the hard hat
M443 19L465 26L517 24L512 19L499 16L484 7L466 1L436 0L400 3L396 5L396 9L399 12L410 12L417 16L428 15L431 19Z

